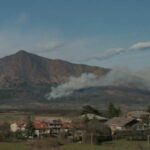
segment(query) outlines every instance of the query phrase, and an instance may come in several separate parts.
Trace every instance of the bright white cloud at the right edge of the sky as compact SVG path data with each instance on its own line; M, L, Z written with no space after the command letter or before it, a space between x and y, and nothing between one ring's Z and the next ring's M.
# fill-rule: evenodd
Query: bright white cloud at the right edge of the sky
M130 47L133 50L145 50L150 49L150 41L148 42L138 42Z

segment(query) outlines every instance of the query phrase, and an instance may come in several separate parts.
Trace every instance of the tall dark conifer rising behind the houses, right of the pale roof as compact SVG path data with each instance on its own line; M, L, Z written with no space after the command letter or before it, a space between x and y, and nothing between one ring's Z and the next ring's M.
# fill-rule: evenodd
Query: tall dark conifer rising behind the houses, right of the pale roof
M107 110L108 117L109 118L118 117L120 116L120 114L121 114L120 107L116 108L113 103L109 103L108 110Z

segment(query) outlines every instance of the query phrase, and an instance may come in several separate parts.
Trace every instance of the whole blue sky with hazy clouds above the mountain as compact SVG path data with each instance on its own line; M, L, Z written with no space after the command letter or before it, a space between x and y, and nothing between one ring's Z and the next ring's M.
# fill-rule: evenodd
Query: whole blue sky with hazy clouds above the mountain
M109 68L150 68L149 0L0 0L0 56L24 49Z

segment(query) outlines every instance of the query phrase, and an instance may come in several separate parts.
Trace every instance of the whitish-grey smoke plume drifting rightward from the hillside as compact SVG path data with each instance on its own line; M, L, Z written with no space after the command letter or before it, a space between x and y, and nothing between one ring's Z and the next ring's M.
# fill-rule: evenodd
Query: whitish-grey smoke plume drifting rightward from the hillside
M145 82L144 79L136 77L129 70L112 70L102 77L98 77L92 73L84 73L80 77L70 77L66 83L52 87L47 97L49 100L66 97L73 94L75 90L99 86L126 86L139 89L147 89L150 87L149 82Z

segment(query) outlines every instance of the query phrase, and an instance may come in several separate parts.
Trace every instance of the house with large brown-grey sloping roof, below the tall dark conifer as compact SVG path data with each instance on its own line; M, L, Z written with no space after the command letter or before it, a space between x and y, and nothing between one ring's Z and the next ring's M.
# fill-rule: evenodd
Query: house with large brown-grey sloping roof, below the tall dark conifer
M110 127L112 135L114 135L117 130L126 130L137 123L138 120L135 118L114 117L108 120L105 124Z

